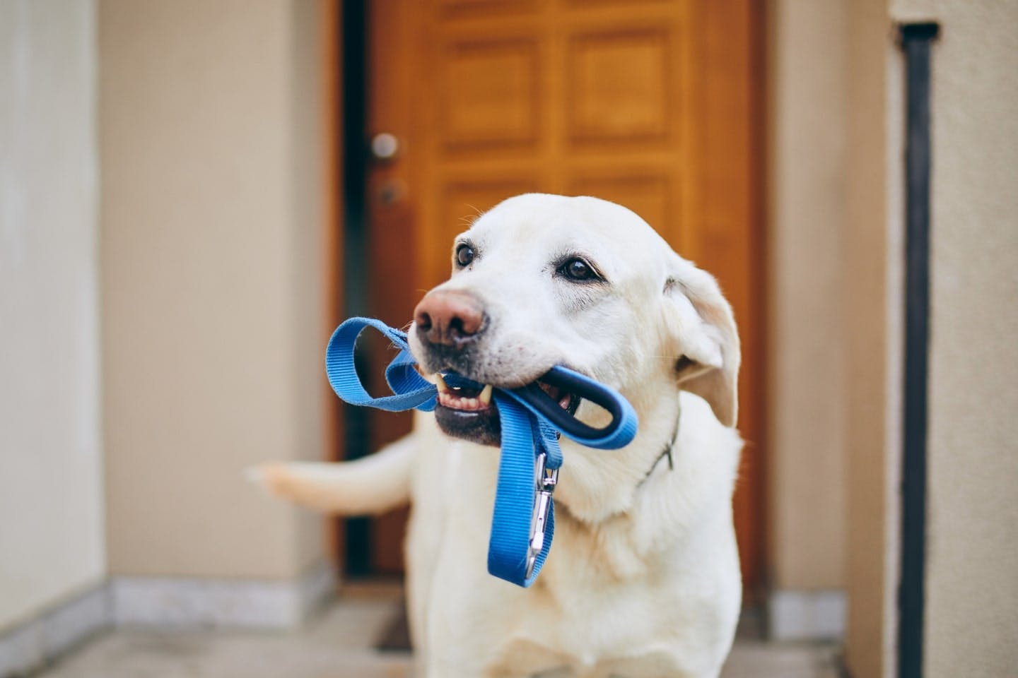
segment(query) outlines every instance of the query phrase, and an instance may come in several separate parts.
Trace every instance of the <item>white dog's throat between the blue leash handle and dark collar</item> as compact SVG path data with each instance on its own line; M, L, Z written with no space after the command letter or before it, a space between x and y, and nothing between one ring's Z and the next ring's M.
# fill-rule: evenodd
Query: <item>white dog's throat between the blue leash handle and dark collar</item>
M668 384L625 394L639 413L639 432L631 443L602 450L563 440L555 501L582 522L625 513L647 478L668 473L671 454L678 452L673 449L681 421L678 389Z

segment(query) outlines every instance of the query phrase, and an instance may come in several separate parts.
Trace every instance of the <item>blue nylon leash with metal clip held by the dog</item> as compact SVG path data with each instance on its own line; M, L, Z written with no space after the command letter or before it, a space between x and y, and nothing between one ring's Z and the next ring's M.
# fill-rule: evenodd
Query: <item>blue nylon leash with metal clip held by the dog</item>
M357 377L353 348L367 327L385 334L399 349L385 372L392 395L372 397ZM415 364L406 333L372 318L350 318L337 327L325 358L329 383L346 403L389 412L431 412L438 402L438 389L417 373ZM452 373L445 380L453 386L482 387ZM493 390L502 424L502 456L488 543L488 571L524 588L541 572L555 535L552 493L562 466L559 433L587 447L617 449L629 444L637 425L636 413L624 397L578 372L556 366L542 380L597 403L611 413L612 423L604 429L583 424L536 384Z

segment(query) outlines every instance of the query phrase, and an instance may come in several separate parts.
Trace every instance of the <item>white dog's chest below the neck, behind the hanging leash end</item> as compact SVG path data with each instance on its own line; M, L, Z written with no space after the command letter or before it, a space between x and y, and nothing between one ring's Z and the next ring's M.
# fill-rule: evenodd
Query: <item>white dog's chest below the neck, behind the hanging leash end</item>
M664 529L661 502L637 501L591 527L559 501L554 545L535 583L507 584L484 569L496 459L458 451L437 466L452 470L448 493L415 503L418 530L409 549L411 564L431 565L416 610L436 656L450 658L449 666L472 657L480 663L472 675L701 675L688 671L690 664L718 650L700 637L696 620L717 616L714 608L725 602L718 590L726 587L715 579L737 588L737 564L703 570L712 558L692 543L702 540ZM644 486L641 498L657 489ZM440 545L435 560L422 558L423 544Z

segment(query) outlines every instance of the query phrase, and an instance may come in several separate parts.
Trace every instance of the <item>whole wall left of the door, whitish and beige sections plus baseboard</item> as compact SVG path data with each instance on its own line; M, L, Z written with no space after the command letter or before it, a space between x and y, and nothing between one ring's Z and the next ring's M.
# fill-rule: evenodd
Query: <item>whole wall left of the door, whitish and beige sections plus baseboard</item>
M242 477L326 454L329 6L0 2L0 675L332 589Z

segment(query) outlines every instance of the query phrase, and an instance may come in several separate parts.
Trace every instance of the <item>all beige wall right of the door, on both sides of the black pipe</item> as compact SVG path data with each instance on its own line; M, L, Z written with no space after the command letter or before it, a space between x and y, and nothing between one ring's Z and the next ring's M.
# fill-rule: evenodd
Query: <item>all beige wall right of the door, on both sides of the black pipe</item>
M775 0L770 13L774 584L844 583L849 668L894 675L905 107L894 26L937 20L925 661L931 676L1005 675L1018 665L1018 4ZM843 442L825 445L825 432Z

